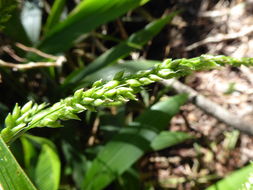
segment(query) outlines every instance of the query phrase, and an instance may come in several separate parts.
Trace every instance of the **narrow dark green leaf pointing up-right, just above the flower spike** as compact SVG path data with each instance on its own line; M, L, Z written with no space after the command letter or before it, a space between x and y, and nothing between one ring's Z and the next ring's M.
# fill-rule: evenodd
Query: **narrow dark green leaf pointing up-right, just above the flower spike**
M132 34L126 41L121 42L120 44L106 51L93 62L91 62L87 67L74 72L73 75L70 75L70 77L65 80L65 84L76 83L85 78L87 75L90 75L109 64L116 63L117 60L128 56L136 48L140 49L144 44L158 34L161 29L169 21L171 21L175 14L176 12L153 21L144 29Z

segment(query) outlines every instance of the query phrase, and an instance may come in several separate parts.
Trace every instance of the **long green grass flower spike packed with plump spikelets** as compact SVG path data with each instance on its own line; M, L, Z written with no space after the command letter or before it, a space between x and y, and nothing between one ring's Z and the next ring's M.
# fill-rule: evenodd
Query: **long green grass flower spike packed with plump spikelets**
M34 127L59 127L60 120L79 119L77 114L85 110L96 110L98 106L116 106L129 100L137 100L142 86L164 79L181 77L193 71L232 66L253 65L253 58L232 58L218 55L202 55L190 59L167 59L148 70L136 74L117 73L111 81L96 81L89 90L77 90L73 96L62 99L52 106L28 102L22 108L16 104L5 119L1 136L10 143Z

